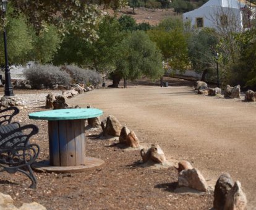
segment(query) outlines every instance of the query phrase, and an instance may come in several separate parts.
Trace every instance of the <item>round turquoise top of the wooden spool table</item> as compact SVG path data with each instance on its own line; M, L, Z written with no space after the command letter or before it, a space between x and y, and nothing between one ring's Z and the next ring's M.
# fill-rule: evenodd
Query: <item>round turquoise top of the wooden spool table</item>
M54 109L50 111L33 112L28 117L33 120L77 120L98 117L103 114L100 109Z

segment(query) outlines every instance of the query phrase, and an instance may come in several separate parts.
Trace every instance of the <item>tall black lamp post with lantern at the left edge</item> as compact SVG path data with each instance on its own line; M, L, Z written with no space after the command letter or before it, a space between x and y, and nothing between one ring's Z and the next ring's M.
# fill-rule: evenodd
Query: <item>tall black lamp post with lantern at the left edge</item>
M2 0L2 15L4 16L7 11L7 0ZM11 83L11 73L9 69L8 63L8 53L7 53L7 36L6 36L6 29L4 28L4 57L6 59L6 68L5 68L5 76L6 76L6 83L4 85L4 96L14 96L14 92L12 90L12 83Z

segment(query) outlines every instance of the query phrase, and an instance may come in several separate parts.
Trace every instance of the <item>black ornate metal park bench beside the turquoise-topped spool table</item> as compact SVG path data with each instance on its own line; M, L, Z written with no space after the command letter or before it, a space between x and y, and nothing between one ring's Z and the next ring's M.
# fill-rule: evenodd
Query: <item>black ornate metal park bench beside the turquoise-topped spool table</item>
M9 107L0 111L0 114L6 111L14 112L0 116L0 172L21 172L32 180L30 188L36 188L36 177L31 164L38 157L40 148L34 143L29 143L29 139L38 133L38 127L32 124L20 127L17 122L11 123L12 117L19 113L19 109Z

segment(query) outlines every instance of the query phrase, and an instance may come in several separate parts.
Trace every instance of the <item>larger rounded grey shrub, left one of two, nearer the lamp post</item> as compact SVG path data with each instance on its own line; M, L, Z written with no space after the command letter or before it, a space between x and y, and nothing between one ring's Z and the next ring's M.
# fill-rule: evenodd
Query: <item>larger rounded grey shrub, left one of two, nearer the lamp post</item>
M30 81L32 88L40 88L43 84L45 87L51 88L53 85L70 85L70 76L54 65L33 65L31 69L24 72L27 80Z

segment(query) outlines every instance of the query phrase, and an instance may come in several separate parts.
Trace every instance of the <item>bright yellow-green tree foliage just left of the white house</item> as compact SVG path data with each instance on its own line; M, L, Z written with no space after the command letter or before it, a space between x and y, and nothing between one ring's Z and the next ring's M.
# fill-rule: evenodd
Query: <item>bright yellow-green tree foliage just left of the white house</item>
M163 20L158 27L148 31L150 39L161 50L164 60L171 69L185 70L189 64L187 57L187 35L182 20L177 18Z

